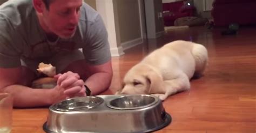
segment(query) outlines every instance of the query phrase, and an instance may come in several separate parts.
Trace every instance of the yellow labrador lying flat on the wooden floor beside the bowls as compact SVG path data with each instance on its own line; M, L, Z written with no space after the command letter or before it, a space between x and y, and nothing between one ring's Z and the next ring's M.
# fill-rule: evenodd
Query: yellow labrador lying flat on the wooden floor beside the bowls
M203 45L173 41L154 50L125 75L116 94L153 94L161 100L190 89L193 75L201 75L208 60Z

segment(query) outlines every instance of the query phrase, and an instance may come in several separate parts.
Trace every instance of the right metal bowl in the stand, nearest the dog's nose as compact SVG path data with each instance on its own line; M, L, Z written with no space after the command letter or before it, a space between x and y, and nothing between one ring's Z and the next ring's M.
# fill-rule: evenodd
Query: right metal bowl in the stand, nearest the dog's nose
M107 102L107 106L120 110L139 109L152 106L158 100L158 98L150 95L126 95Z

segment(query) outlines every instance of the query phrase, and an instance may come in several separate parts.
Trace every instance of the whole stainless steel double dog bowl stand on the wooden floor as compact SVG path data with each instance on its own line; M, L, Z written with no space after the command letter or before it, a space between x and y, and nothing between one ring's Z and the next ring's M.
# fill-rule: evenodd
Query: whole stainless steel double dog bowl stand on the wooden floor
M45 132L151 132L171 116L152 95L98 95L67 99L49 108Z

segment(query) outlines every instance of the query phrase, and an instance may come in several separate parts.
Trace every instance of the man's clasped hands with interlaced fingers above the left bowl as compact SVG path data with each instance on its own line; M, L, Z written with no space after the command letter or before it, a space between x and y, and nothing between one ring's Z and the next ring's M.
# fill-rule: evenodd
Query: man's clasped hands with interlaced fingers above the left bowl
M58 74L55 76L57 78L56 90L61 92L62 95L66 95L68 98L72 97L82 97L85 96L84 81L80 79L80 76L77 73L68 71L63 74Z

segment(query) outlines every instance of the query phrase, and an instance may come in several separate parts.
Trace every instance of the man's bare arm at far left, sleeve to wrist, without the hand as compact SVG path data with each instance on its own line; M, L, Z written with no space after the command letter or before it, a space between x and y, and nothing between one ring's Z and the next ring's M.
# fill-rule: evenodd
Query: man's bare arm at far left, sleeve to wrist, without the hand
M53 89L32 89L19 85L22 77L22 67L0 68L0 92L10 93L14 97L14 107L39 107L53 104L59 95Z

